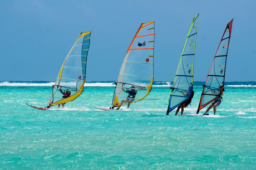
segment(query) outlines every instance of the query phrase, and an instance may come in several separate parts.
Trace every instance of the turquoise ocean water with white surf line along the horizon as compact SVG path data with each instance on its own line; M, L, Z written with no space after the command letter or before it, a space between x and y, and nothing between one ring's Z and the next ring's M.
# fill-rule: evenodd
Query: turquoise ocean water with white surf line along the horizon
M226 83L209 116L166 116L168 82L129 110L91 106L111 106L111 81L86 83L64 109L25 104L45 107L52 84L0 81L0 169L256 169L256 82ZM185 112L196 112L202 84Z

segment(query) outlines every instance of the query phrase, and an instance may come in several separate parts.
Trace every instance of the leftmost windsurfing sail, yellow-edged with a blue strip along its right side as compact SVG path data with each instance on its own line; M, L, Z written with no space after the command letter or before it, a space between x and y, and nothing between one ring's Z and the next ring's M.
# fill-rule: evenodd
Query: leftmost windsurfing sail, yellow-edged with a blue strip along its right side
M47 107L75 100L83 92L91 32L81 33L58 73Z

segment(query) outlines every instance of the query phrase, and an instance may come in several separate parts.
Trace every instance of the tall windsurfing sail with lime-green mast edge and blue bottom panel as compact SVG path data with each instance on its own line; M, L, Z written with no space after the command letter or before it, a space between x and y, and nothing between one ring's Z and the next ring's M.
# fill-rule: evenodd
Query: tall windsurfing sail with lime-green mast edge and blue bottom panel
M193 74L198 16L199 14L197 14L193 19L188 37L186 38L183 52L180 56L180 63L176 71L173 87L171 87L169 106L166 115L169 115L170 111L174 110L182 102L189 99L189 97L194 94Z

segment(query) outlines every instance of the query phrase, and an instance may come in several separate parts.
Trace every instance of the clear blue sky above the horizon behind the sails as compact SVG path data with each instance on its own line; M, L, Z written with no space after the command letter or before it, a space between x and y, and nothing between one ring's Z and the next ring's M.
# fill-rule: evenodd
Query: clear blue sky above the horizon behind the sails
M86 81L116 81L141 23L155 20L154 80L173 81L196 14L194 81L205 81L234 18L225 81L256 81L256 1L0 0L0 80L55 81L81 32L91 31Z

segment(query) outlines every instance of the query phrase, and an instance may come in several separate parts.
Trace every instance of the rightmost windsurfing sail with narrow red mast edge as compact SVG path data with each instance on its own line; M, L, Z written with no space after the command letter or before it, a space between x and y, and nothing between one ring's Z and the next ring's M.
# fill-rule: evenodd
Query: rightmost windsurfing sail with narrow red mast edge
M219 43L219 47L211 64L209 73L207 75L204 89L201 94L201 99L198 106L199 113L201 109L210 104L213 100L220 97L224 92L224 80L225 80L225 70L227 64L229 40L231 36L233 19L227 24L225 31Z

